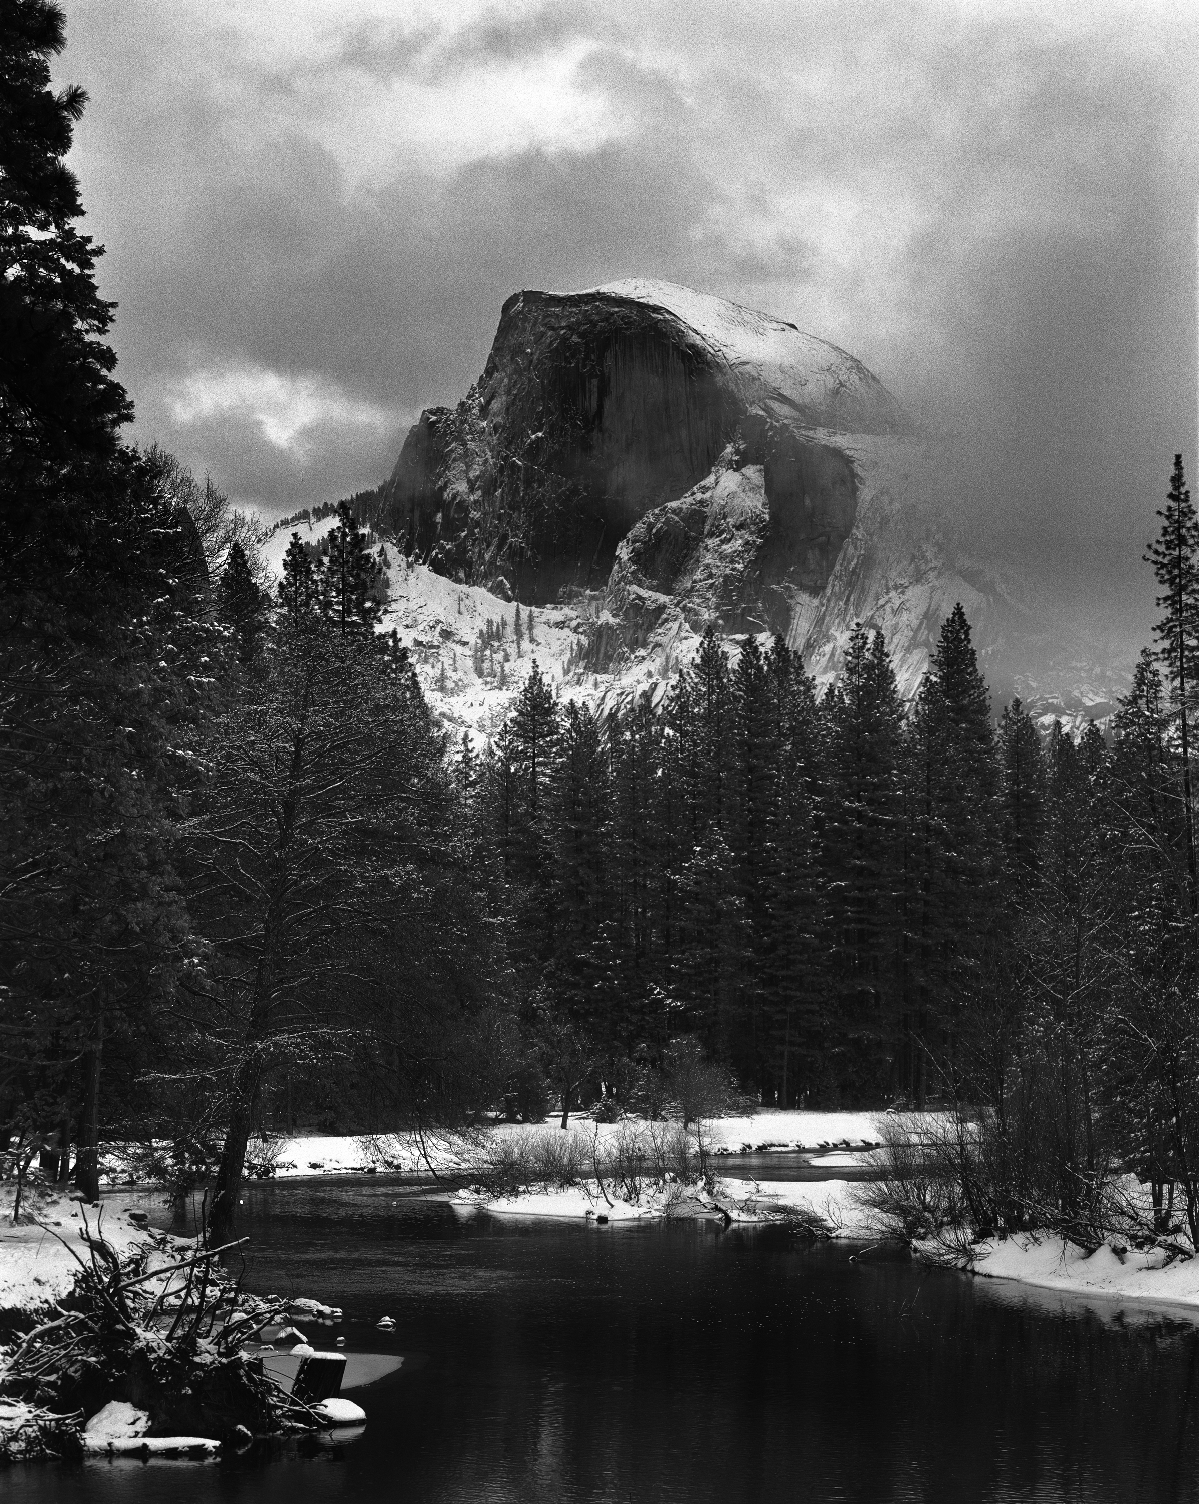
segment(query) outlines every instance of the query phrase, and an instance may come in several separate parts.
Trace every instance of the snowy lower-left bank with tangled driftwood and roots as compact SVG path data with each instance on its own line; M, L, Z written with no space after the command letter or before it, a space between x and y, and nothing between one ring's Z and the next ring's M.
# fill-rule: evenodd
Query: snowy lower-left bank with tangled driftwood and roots
M26 1190L20 1218L12 1196L0 1203L0 1463L203 1459L364 1420L337 1396L345 1355L314 1355L287 1325L341 1313L248 1293L224 1262L247 1239L150 1229L128 1194ZM320 1358L311 1384L263 1366L275 1333Z

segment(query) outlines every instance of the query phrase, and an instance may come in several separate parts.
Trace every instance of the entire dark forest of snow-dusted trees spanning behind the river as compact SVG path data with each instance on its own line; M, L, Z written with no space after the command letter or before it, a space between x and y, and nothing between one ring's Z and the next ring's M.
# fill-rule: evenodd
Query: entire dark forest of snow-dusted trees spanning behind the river
M0 27L5 1169L95 1197L102 1143L140 1143L223 1233L263 1123L660 1113L686 1080L684 1114L948 1102L991 1133L976 1223L1077 1226L1125 1163L1166 1220L1181 1185L1196 1241L1181 457L1157 651L1107 737L1018 701L996 725L955 606L910 704L864 624L824 693L781 639L730 657L710 629L657 710L600 717L534 668L451 750L378 630L376 493L268 593L220 487L122 442L62 12Z

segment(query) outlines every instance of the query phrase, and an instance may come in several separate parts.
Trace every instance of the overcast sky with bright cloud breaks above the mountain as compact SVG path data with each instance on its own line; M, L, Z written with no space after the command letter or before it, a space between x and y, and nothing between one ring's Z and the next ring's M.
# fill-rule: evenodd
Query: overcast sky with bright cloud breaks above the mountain
M999 543L1142 614L1196 442L1190 0L66 11L134 436L239 501L382 480L508 293L663 277L969 433Z

